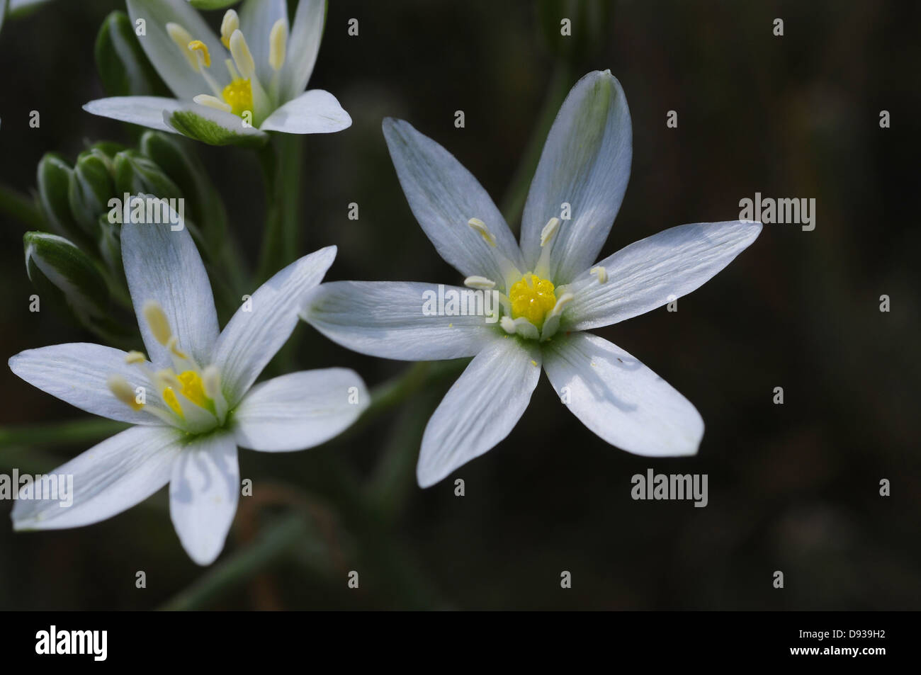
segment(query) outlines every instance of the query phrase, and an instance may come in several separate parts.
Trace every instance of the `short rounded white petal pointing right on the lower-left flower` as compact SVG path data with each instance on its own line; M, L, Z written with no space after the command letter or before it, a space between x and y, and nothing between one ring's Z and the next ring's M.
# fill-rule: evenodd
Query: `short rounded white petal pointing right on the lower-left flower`
M237 444L266 452L313 448L358 419L370 396L354 370L290 373L257 384L234 412Z

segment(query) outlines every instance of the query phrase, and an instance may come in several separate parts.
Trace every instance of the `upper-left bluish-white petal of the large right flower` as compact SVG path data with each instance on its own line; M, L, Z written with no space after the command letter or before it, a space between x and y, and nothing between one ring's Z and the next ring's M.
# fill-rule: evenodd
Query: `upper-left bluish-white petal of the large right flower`
M387 118L383 128L406 200L438 254L464 276L485 276L500 285L507 273L502 257L524 272L505 218L471 172L408 122ZM468 225L471 218L484 222L495 246Z

